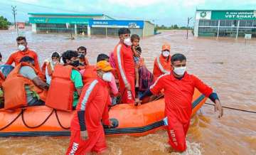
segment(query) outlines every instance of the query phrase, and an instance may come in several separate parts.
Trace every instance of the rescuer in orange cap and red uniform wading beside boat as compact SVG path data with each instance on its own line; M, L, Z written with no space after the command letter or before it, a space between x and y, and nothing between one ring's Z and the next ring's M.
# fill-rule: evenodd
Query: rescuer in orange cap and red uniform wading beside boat
M70 125L70 145L66 154L100 153L107 149L102 123L113 127L109 119L111 66L106 60L97 62L97 77L82 88L78 107Z

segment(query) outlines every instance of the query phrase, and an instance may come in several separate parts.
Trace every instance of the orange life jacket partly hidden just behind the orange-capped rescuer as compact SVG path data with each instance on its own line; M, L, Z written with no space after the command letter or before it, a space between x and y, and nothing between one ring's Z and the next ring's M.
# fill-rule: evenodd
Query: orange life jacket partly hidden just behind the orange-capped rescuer
M95 80L97 77L96 66L95 65L87 65L85 66L85 71L82 73L82 82L85 83L90 82L91 80Z

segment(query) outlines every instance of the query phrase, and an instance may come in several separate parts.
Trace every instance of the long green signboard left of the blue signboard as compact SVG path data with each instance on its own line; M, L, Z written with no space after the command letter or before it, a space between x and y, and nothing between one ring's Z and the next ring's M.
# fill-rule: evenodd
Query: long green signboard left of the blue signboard
M48 17L29 17L29 23L70 23L88 24L90 18L48 18Z

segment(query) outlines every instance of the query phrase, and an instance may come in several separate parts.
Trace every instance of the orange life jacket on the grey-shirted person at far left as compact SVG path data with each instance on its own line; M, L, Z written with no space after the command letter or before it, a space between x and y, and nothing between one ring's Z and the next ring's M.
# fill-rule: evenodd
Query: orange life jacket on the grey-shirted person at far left
M38 70L28 63L18 64L14 70L6 77L6 80L2 83L4 90L4 108L14 109L18 107L26 107L28 105L26 100L26 90L25 85L28 85L31 91L36 92L40 99L45 101L47 92L37 87L32 80L23 77L19 74L19 70L22 66L29 66L35 70L36 75L38 75Z

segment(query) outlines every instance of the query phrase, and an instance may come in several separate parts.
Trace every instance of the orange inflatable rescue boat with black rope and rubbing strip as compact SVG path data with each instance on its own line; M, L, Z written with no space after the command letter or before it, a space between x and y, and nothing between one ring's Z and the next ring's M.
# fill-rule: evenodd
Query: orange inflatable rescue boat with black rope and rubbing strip
M206 102L198 90L193 95L193 112ZM26 107L14 111L0 109L0 137L65 137L70 136L73 112L63 112L46 106ZM119 104L110 108L110 118L117 119L117 128L105 129L108 135L144 136L164 127L164 98L138 107Z

